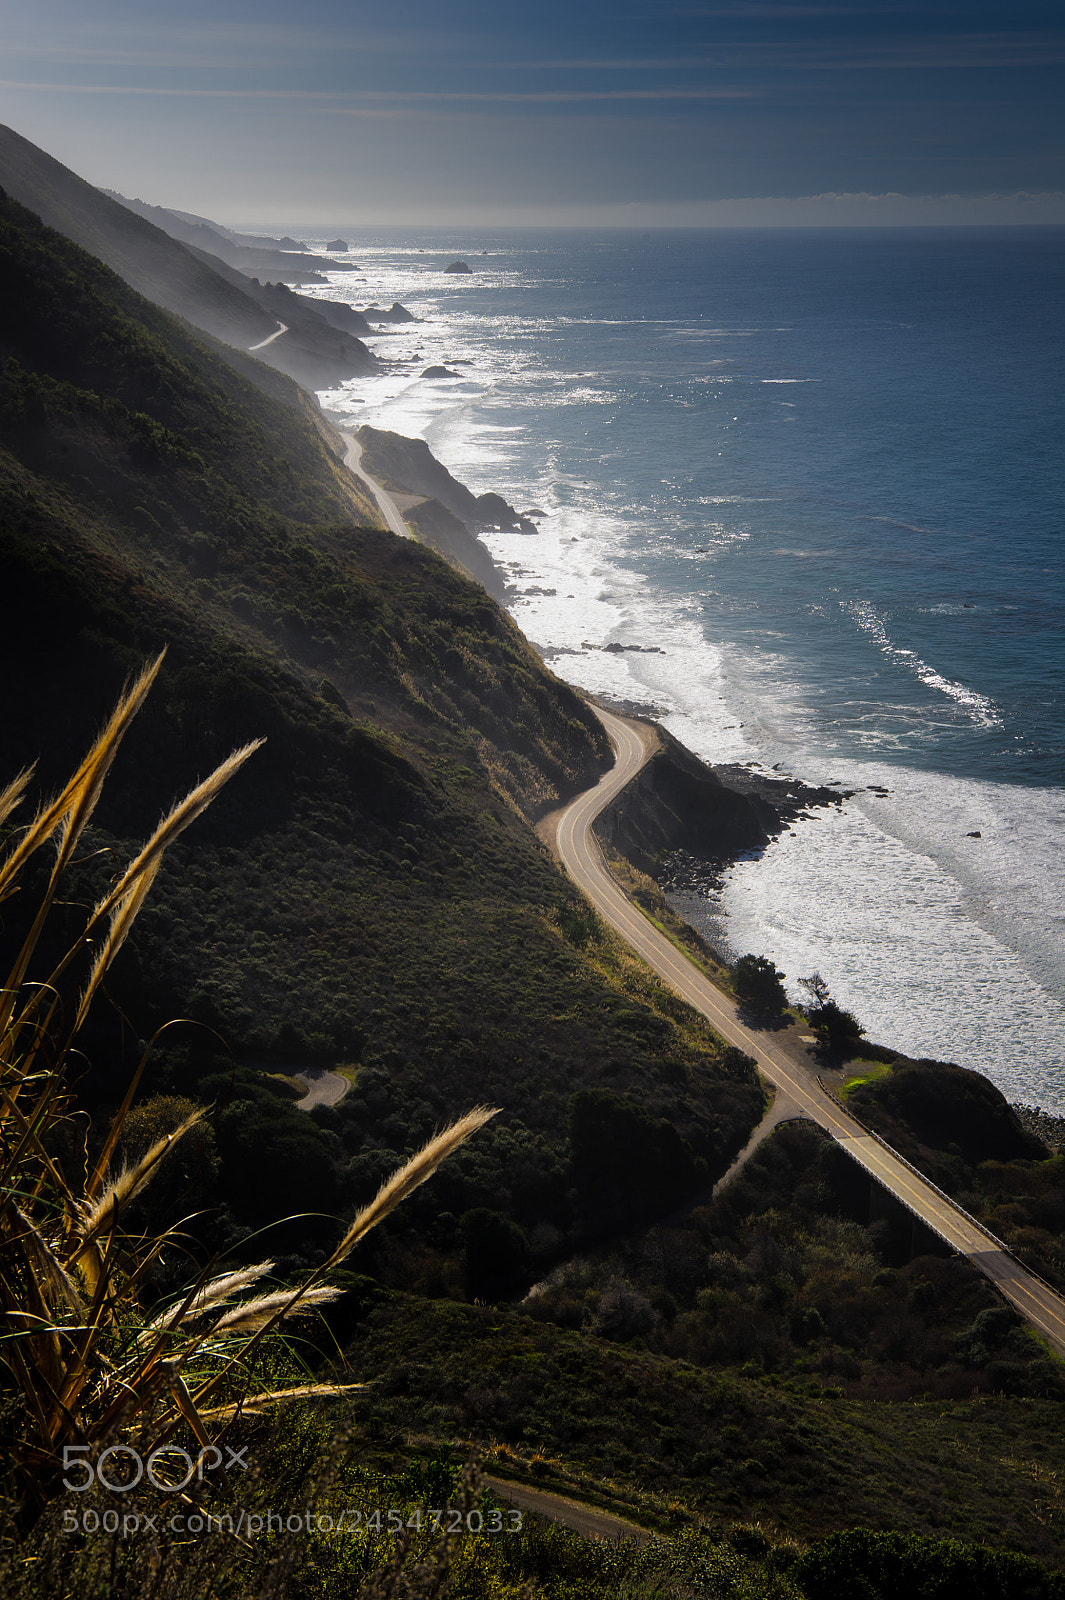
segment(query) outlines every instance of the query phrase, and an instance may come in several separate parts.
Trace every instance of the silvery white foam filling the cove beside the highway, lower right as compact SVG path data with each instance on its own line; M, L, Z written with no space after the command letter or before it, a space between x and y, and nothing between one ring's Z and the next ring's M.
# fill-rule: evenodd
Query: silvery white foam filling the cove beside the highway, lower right
M897 770L884 773L897 779ZM907 803L945 800L951 787L915 782ZM1065 1109L1065 1008L1039 982L1046 952L1015 947L1025 918L1044 926L1035 907L1025 907L1023 890L1003 893L1001 856L988 874L991 893L982 894L975 877L966 888L950 870L964 854L958 842L937 859L934 842L889 830L870 814L876 810L862 798L819 811L760 861L737 862L723 893L734 949L771 955L796 998L798 978L820 971L873 1038L975 1066L1014 1099ZM987 822L987 806L975 811ZM900 821L899 806L883 816ZM1046 971L1052 976L1060 981Z

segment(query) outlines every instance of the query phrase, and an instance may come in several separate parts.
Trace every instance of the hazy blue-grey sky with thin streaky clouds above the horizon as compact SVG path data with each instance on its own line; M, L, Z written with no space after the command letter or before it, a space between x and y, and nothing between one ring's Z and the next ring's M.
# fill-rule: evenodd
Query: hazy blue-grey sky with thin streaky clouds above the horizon
M0 0L0 122L230 226L1065 222L1060 0Z

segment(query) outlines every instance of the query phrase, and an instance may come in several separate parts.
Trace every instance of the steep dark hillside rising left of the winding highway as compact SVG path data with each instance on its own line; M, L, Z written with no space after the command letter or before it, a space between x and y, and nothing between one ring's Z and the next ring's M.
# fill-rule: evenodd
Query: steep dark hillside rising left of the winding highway
M50 787L166 643L86 896L173 792L269 742L174 850L117 998L144 1035L192 1014L249 1061L358 1069L336 1114L222 1120L222 1200L261 1222L313 1173L344 1208L489 1099L505 1115L454 1163L449 1210L502 1211L550 1258L617 1221L568 1178L577 1085L668 1130L668 1195L705 1182L758 1114L750 1069L580 910L526 822L601 770L598 722L480 587L365 526L310 422L13 202L0 218L5 760L40 754ZM106 1096L128 1045L98 1032ZM160 1051L157 1086L232 1096L216 1048ZM461 1283L445 1246L425 1270ZM416 1282L419 1250L389 1270Z

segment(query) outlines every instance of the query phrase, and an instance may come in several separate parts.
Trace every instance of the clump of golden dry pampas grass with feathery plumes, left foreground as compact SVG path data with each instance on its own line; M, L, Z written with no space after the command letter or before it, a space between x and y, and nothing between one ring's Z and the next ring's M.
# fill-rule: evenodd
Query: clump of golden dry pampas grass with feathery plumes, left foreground
M174 1230L157 1237L126 1232L123 1213L205 1112L185 1117L136 1163L115 1171L114 1154L146 1061L104 1131L94 1162L88 1157L85 1118L75 1115L67 1064L163 853L257 744L237 750L173 806L48 976L32 981L29 974L64 872L162 659L123 693L74 778L14 834L0 859L3 901L18 893L37 851L54 850L46 888L0 990L0 1358L5 1387L16 1395L11 1466L27 1509L38 1509L56 1493L67 1445L90 1446L93 1453L136 1438L138 1450L147 1454L182 1432L208 1448L217 1426L240 1411L360 1389L264 1389L256 1382L253 1355L281 1322L334 1299L339 1290L321 1283L325 1272L345 1261L371 1227L494 1115L481 1107L437 1134L389 1179L333 1254L296 1288L264 1290L273 1262L262 1261L214 1277L201 1274L166 1309L152 1317L144 1312L146 1275ZM6 824L8 832L29 779L22 773L0 794L0 826Z

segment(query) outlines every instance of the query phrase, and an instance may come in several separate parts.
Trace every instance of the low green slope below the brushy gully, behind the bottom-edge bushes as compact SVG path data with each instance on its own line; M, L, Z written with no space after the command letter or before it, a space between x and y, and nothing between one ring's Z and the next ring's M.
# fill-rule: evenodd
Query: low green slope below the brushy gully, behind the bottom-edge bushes
M352 1291L371 1438L478 1440L485 1470L660 1531L856 1525L979 1539L1065 1565L1060 1400L876 1405L814 1378L708 1368L512 1307ZM341 1302L344 1304L344 1302ZM350 1301L349 1304L349 1315Z

